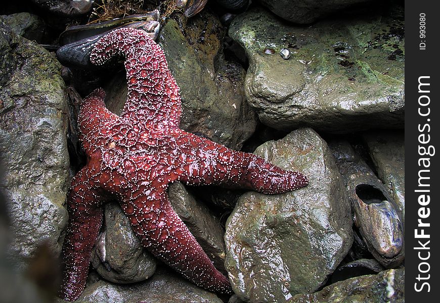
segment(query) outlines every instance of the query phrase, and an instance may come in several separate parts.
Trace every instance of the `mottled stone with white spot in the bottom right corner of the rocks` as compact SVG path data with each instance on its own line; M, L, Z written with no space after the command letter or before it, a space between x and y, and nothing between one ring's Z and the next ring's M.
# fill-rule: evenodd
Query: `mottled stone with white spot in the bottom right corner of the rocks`
M405 269L390 269L336 282L312 294L297 294L289 302L405 302Z

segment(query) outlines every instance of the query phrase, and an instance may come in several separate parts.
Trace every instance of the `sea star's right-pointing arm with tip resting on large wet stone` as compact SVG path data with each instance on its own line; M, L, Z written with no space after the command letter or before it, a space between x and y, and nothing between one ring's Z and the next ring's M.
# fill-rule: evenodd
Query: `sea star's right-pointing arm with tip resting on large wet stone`
M299 172L286 171L264 159L182 132L178 137L180 180L187 184L244 187L262 193L282 193L309 183Z

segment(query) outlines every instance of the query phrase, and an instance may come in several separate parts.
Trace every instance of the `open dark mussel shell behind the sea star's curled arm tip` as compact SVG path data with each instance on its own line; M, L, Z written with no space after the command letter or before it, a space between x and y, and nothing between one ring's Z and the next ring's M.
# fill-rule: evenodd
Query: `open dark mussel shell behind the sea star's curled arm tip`
M158 19L159 12L155 10L149 15L128 16L89 26L71 27L60 36L60 44L67 44L58 49L57 58L67 67L96 69L98 67L90 62L90 54L102 36L116 28L133 27L145 30L155 40L160 30Z

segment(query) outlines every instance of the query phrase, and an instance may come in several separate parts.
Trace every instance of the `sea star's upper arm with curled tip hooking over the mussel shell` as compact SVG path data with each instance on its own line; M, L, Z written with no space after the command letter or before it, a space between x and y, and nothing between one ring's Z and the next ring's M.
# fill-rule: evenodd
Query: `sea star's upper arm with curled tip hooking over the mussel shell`
M102 37L90 59L101 65L116 55L126 58L128 95L121 117L145 123L150 129L179 128L179 87L162 48L143 30L121 28Z

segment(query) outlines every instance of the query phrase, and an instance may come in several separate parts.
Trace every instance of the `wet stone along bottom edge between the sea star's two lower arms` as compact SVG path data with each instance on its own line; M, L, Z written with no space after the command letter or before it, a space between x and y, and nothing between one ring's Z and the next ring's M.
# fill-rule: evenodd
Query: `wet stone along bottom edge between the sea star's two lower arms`
M58 299L58 302L64 302ZM77 303L222 303L215 294L195 286L180 275L160 271L151 279L134 284L96 282L85 288Z

